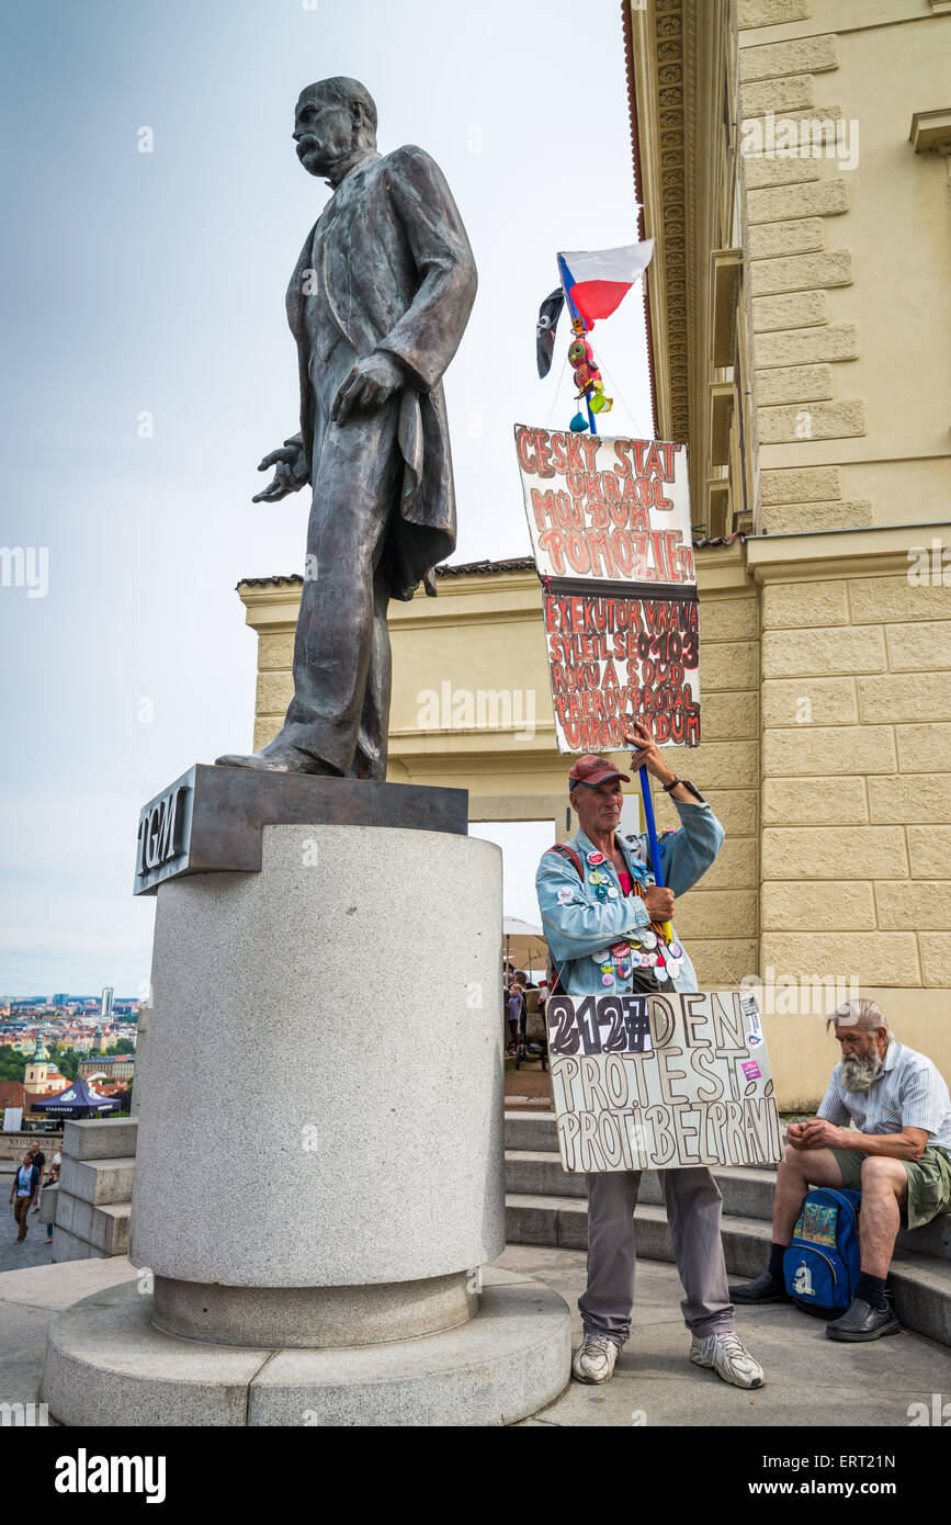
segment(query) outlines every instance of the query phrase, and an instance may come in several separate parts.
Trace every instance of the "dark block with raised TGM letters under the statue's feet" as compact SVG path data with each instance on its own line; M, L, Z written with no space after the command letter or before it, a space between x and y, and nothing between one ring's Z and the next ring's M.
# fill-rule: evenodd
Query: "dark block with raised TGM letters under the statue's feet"
M137 895L181 874L261 869L262 827L402 827L468 834L468 791L197 762L143 805Z

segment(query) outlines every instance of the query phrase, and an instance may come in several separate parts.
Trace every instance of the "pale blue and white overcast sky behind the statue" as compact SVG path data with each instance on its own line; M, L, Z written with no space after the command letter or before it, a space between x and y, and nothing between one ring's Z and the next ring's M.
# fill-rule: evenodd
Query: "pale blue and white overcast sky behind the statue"
M306 496L250 503L258 461L297 429L283 293L329 194L294 156L294 101L354 75L381 151L421 143L445 171L480 273L447 377L454 560L526 555L512 424L573 412L561 339L552 377L535 372L555 252L636 238L620 3L2 14L0 544L24 547L44 596L0 586L0 993L136 994L154 915L131 895L139 807L250 746L255 637L235 584L303 561ZM640 290L599 340L629 409L616 403L613 432L652 433ZM536 920L530 859L549 836L498 836L509 913Z

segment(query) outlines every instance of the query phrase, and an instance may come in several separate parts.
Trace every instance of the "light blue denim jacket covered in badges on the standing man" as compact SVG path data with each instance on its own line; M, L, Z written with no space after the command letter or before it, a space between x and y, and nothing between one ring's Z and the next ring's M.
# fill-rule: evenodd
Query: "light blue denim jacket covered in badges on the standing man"
M724 830L707 804L674 801L674 805L680 816L680 830L664 833L658 846L663 881L678 897L692 889L710 868L721 849ZM643 875L645 865L649 863L646 834L639 837L617 834L616 840L628 863L628 871L636 875L640 868ZM600 982L600 968L591 955L610 947L611 942L617 942L628 933L643 930L649 926L651 917L640 895L620 892L613 900L597 898L594 886L588 883L588 852L594 852L594 843L584 831L570 837L565 846L578 852L585 877L582 881L575 865L561 852L549 849L543 854L535 877L541 926L555 967L561 974L559 988L568 996L604 996L607 991ZM608 886L620 891L617 871L610 859L597 865L597 872L607 874ZM654 883L654 877L648 872L643 881L649 886ZM681 942L677 929L674 929L674 936L677 942ZM628 974L626 979L619 976L611 994L623 994L631 988L631 976ZM664 985L658 985L657 990L658 994L663 994L664 990L696 990L696 974L686 949L678 974Z

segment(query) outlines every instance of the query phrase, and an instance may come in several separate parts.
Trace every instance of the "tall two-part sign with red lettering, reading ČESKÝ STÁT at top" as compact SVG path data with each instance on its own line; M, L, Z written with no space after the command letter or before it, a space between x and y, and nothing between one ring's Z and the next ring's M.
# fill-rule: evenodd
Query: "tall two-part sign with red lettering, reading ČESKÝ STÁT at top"
M515 425L559 752L700 743L687 448Z

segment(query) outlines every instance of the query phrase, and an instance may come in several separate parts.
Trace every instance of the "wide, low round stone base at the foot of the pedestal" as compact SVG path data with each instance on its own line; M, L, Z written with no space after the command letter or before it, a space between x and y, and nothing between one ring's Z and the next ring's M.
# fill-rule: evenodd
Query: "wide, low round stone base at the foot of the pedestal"
M500 1426L570 1377L570 1313L540 1281L486 1272L480 1312L442 1334L337 1350L175 1339L136 1283L61 1313L43 1401L66 1426Z

